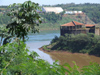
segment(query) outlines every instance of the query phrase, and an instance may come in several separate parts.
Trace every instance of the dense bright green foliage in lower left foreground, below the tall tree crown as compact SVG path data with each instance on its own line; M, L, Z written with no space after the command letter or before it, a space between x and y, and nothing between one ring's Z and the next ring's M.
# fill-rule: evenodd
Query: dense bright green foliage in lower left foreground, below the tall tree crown
M29 52L23 42L16 41L0 47L0 73L1 75L64 75L62 66L36 58L36 52ZM30 53L30 54L28 54Z

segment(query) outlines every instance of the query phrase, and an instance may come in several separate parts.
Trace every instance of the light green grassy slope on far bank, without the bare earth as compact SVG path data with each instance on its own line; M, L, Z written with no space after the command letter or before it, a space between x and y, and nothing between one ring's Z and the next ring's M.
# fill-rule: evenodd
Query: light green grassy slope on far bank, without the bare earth
M67 17L63 17L62 20L58 20L56 23L42 23L40 24L39 28L40 30L59 30L62 24L71 22L73 20L78 21L76 19L67 16Z

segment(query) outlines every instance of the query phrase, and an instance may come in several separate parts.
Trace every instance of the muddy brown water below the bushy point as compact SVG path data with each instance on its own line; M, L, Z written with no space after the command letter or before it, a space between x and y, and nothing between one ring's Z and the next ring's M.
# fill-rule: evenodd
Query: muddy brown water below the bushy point
M42 48L39 48L39 50L49 54L52 59L58 60L61 65L68 63L73 67L73 61L75 61L80 68L89 65L90 62L97 62L98 64L100 64L100 57L96 57L93 55L83 53L71 53L67 51L47 51L43 50Z

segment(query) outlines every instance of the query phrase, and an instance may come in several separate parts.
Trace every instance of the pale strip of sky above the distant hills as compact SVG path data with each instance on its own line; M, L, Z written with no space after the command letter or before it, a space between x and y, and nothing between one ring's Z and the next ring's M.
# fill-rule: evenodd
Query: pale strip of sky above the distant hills
M10 5L13 3L23 3L28 0L0 0L1 5ZM40 5L55 5L55 4L66 4L66 3L99 3L100 0L31 0L32 2L39 3Z

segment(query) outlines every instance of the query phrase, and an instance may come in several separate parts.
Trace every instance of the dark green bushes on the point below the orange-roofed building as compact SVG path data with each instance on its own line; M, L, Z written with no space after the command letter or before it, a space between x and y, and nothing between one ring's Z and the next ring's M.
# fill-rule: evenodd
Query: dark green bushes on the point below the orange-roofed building
M43 48L46 50L64 50L73 53L88 53L100 56L100 36L93 33L56 36L50 45L44 46Z

